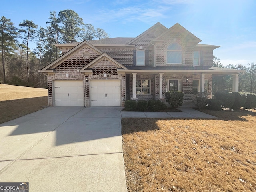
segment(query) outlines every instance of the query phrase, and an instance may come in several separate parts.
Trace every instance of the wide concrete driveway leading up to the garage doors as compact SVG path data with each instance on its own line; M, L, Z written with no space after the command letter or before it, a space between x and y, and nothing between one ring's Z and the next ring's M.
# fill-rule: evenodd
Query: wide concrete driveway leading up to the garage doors
M121 107L48 107L0 124L0 182L126 192Z

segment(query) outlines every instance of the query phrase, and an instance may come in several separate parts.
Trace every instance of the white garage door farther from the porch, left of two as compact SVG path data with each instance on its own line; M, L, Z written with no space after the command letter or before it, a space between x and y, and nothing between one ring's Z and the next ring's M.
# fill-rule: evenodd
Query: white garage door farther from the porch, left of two
M55 106L84 106L83 81L54 81Z

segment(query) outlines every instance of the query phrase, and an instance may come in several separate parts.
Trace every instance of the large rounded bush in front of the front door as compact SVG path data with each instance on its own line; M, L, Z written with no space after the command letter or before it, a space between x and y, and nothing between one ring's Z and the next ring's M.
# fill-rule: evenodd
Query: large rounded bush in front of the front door
M165 93L165 99L172 108L176 109L183 103L184 93L180 91L168 91Z

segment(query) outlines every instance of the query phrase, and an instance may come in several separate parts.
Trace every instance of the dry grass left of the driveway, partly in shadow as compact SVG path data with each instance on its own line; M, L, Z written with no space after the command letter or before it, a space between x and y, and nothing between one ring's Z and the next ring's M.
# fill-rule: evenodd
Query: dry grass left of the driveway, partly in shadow
M48 105L47 89L0 84L0 123Z

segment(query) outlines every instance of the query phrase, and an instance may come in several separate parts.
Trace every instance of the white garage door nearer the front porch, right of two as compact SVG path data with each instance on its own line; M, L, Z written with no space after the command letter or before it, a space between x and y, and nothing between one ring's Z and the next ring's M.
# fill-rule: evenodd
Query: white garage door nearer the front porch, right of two
M121 106L120 80L91 80L90 100L92 107Z

